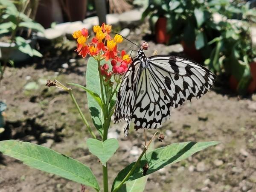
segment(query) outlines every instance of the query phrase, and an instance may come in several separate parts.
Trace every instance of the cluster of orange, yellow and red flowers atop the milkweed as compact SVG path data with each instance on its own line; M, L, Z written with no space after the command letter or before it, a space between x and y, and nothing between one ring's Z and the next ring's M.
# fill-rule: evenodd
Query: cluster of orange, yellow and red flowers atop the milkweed
M105 77L105 81L109 80L113 74L123 74L128 70L129 64L131 64L131 57L126 54L124 50L121 51L121 55L118 56L119 51L117 45L122 43L123 38L121 35L116 34L114 38L111 38L112 26L105 23L102 26L93 26L93 32L95 37L91 42L87 42L89 38L89 32L87 29L81 29L73 33L73 38L77 41L77 49L79 55L85 58L87 55L92 56L97 61L105 59L105 61L111 61L112 71L108 72L108 64L100 66L100 73ZM119 64L118 64L119 63Z

